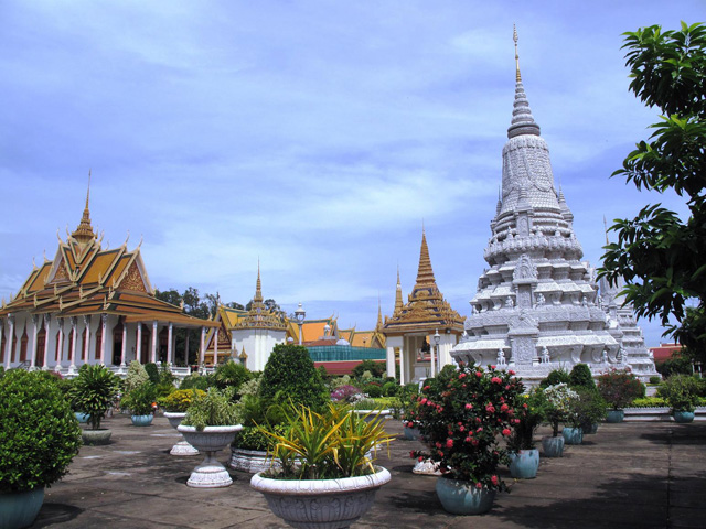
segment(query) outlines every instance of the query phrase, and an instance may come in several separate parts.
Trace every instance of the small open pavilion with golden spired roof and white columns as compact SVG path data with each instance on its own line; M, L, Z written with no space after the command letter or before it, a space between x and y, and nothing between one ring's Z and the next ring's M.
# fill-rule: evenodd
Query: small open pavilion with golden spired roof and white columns
M403 304L399 271L397 272L395 311L383 325L387 376L395 376L398 361L399 382L403 385L434 377L441 367L451 364L451 349L463 333L463 320L451 309L437 287L427 236L422 230L415 288L407 303Z

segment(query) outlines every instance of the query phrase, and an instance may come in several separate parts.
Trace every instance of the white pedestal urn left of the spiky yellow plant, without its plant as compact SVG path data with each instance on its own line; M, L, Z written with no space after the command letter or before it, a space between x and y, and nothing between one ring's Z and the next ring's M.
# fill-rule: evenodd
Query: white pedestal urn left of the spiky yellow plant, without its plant
M197 488L217 488L227 487L233 483L228 471L216 461L215 454L233 442L235 433L243 430L240 424L206 427L202 431L196 430L195 427L180 424L176 430L182 433L188 443L205 454L203 462L191 473L186 485Z

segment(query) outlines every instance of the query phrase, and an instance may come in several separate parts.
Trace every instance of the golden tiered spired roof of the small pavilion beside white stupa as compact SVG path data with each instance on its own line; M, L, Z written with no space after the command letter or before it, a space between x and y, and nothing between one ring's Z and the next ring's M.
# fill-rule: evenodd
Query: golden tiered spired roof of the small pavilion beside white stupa
M415 332L434 334L436 330L439 332L449 330L449 332L458 334L462 332L463 317L451 309L437 287L424 230L421 233L417 282L406 304L399 306L402 304L399 271L397 272L397 293L399 301L395 303L395 312L383 326L383 333L386 336Z

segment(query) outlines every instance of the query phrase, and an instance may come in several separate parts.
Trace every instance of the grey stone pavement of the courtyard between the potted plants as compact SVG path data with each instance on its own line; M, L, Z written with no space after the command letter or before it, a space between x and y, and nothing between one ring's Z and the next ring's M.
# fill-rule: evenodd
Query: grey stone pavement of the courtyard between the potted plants
M174 457L178 434L167 419L136 428L127 415L104 422L111 444L84 446L71 473L47 489L33 528L258 528L286 527L264 497L249 488L249 474L232 472L227 488L188 487L196 457ZM536 479L514 482L491 512L447 514L435 477L411 473L410 450L399 434L378 464L393 479L374 507L353 527L363 528L704 528L706 527L706 424L662 422L601 424L561 458L541 460ZM541 430L539 434L546 434ZM226 462L229 451L220 454Z

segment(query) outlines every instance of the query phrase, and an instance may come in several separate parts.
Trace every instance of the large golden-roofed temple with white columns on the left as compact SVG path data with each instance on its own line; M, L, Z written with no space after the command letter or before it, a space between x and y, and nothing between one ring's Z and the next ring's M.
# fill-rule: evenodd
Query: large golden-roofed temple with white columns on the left
M88 201L78 227L58 238L53 260L34 266L19 292L0 307L0 365L72 376L83 364L125 373L131 360L172 364L174 328L201 328L201 355L213 322L158 300L140 255L127 240L104 249ZM141 245L141 242L140 242ZM181 352L183 365L185 352Z

